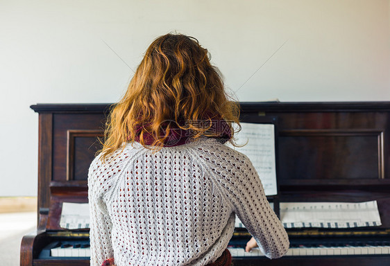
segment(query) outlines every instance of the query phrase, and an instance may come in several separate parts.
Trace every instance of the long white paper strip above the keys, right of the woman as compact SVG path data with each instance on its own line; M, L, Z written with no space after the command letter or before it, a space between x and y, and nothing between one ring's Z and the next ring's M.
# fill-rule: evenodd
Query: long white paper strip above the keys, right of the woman
M371 202L280 202L286 228L350 228L380 226L376 200Z

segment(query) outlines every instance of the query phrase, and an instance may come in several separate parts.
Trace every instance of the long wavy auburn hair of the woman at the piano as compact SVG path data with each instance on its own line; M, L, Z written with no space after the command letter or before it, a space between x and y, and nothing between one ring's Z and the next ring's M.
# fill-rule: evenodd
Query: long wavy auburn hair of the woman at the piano
M198 123L205 119L206 127ZM207 49L194 37L162 35L146 50L124 97L112 106L101 159L135 140L158 149L174 128L191 130L193 139L217 136L207 130L218 119L227 122L233 136L232 123L239 127L239 105L230 100ZM153 136L152 145L146 145L146 135ZM234 145L233 139L230 142Z

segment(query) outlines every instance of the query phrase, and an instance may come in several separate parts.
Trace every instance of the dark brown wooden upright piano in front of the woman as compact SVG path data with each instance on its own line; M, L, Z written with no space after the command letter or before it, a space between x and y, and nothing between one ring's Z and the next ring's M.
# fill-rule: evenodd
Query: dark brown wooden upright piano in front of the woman
M39 113L38 225L24 236L21 265L89 265L53 257L61 245L85 248L89 230L59 226L62 202L87 202L87 169L103 136L110 105L33 105ZM376 200L382 225L353 229L288 229L291 247L319 256L235 257L237 265L390 265L390 103L241 103L241 121L278 121L280 202ZM246 242L237 233L235 242ZM241 236L244 235L244 236ZM348 254L326 249L348 248ZM373 254L355 252L370 247ZM323 252L325 251L325 252Z

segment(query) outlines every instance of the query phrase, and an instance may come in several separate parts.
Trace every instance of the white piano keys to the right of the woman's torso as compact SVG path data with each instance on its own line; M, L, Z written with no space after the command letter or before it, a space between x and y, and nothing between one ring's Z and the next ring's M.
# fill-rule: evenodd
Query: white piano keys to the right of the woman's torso
M285 256L338 256L338 255L382 255L390 254L390 243L379 242L378 245L364 245L364 246L336 246L325 247L318 245L316 247L305 247L298 245L290 247ZM245 252L241 247L228 247L230 254L233 257L256 257L264 256L259 248L252 249L251 252Z

